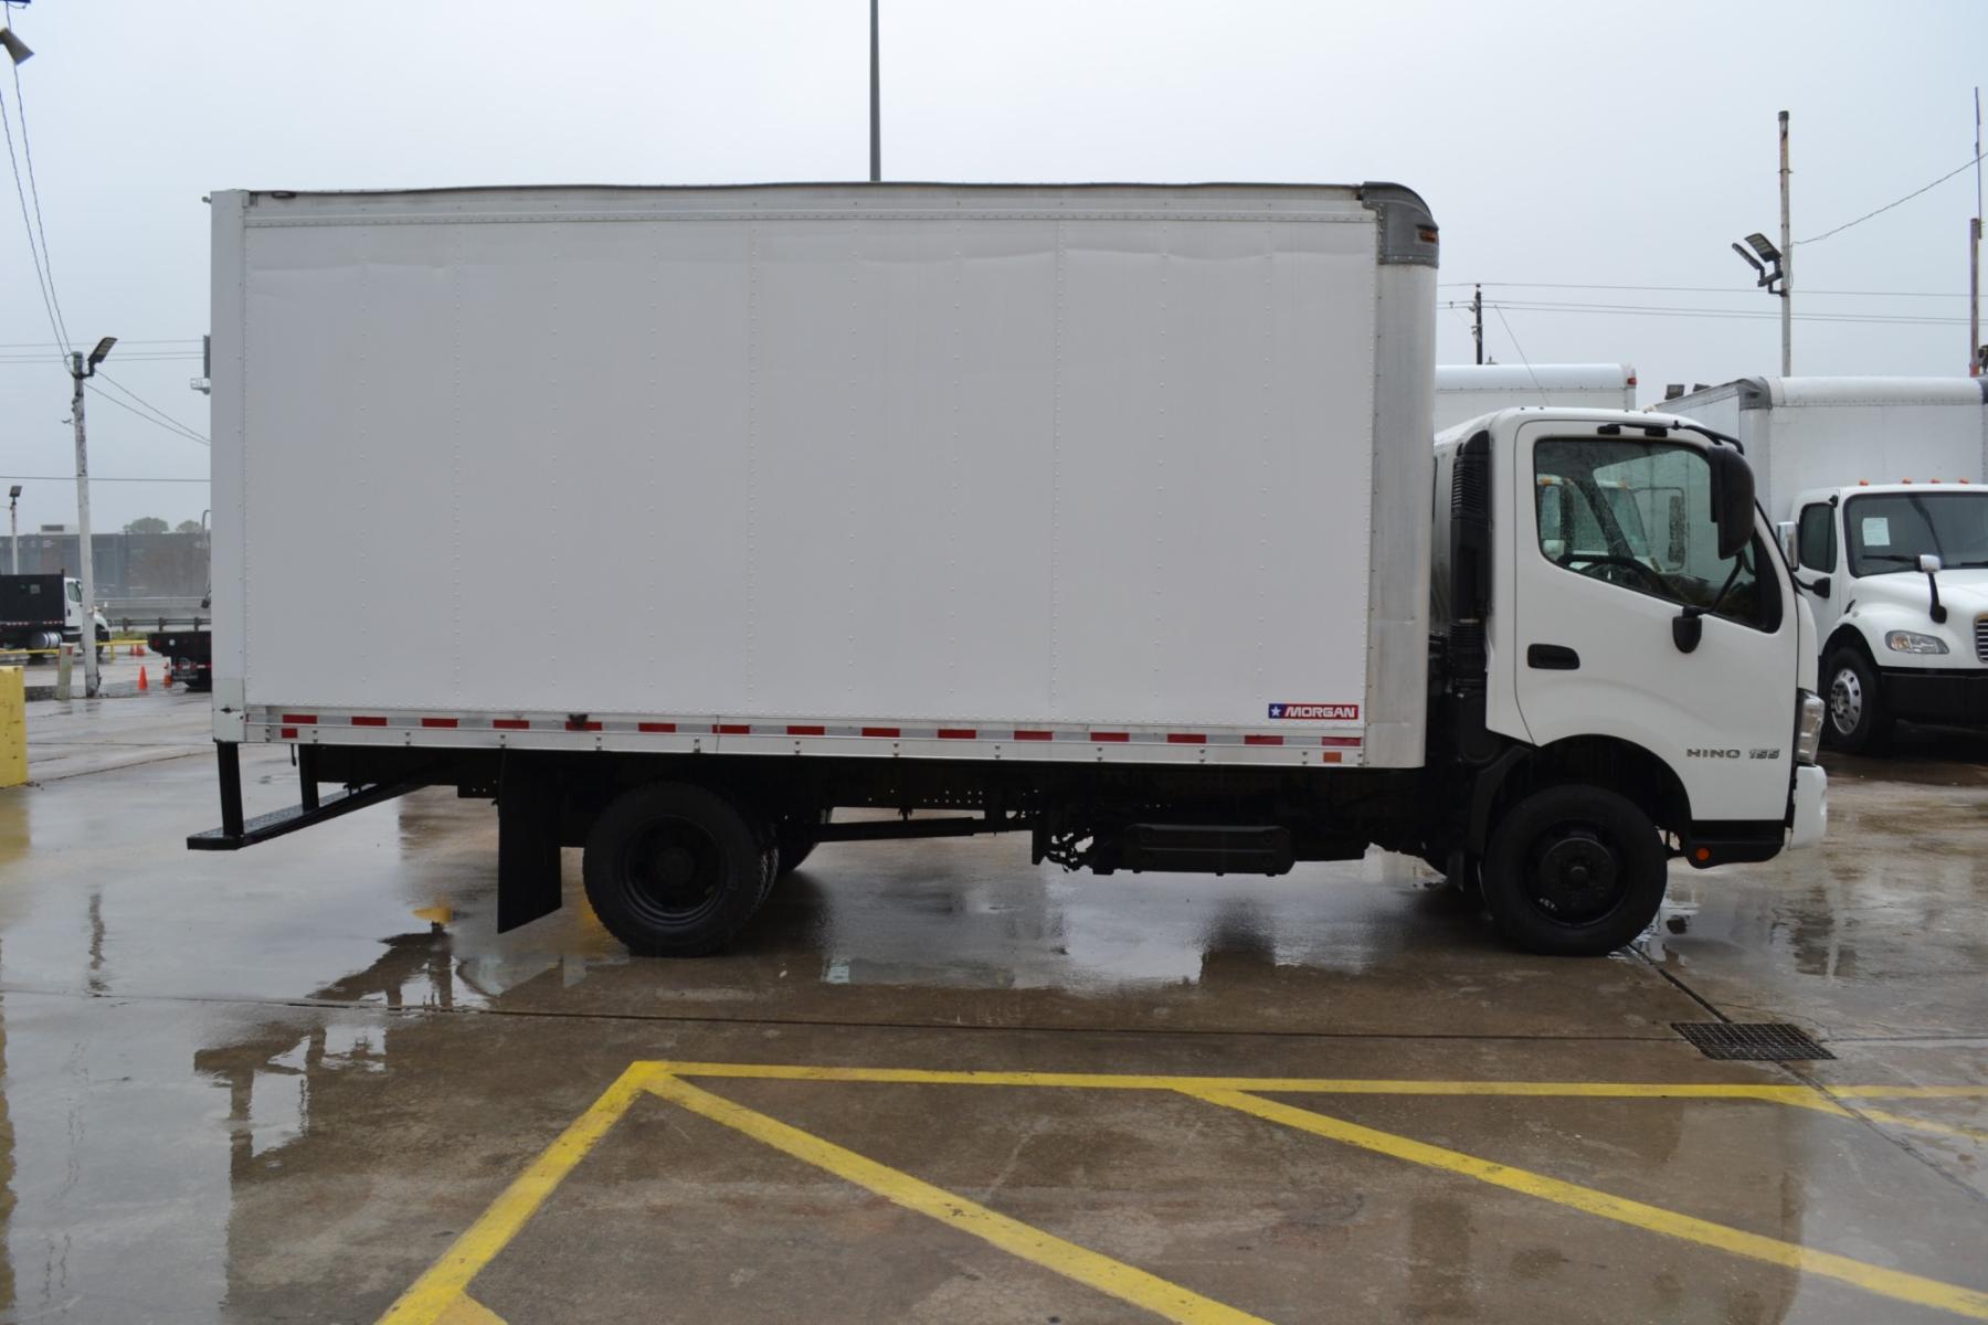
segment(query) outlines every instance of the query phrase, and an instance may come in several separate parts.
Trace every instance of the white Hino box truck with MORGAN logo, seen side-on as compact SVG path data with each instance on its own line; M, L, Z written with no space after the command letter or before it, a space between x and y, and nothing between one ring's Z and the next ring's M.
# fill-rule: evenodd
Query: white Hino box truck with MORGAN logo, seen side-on
M1431 449L1406 189L215 193L213 236L195 848L455 787L497 803L499 928L582 846L602 924L690 956L819 842L1378 844L1588 954L1670 858L1821 834L1740 453L1620 411ZM1696 495L1676 574L1600 497L1648 483ZM296 749L300 805L245 820L243 743Z

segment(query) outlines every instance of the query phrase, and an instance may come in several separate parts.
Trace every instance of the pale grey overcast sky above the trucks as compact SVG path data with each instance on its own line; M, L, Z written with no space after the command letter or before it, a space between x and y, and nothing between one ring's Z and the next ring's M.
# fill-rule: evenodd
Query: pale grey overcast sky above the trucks
M70 338L119 336L107 371L199 433L211 189L869 165L863 0L16 0L8 18L36 56L20 97L0 62L0 95L16 153L26 103ZM1443 300L1481 280L1501 304L1499 362L1630 362L1648 401L1777 369L1775 302L1728 248L1777 234L1775 113L1793 113L1795 238L1853 221L1974 155L1984 18L1980 0L883 0L885 177L1394 179L1441 222ZM1966 171L1801 250L1795 371L1964 373L1972 215ZM12 199L0 282L0 479L26 481L22 526L68 522L76 485L46 475L74 475L70 379ZM1469 362L1467 316L1439 326L1439 362ZM99 397L89 443L105 479L207 473L201 445ZM91 489L97 528L203 507L193 483Z

